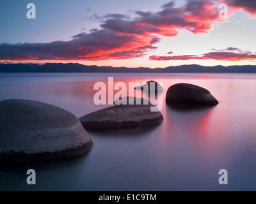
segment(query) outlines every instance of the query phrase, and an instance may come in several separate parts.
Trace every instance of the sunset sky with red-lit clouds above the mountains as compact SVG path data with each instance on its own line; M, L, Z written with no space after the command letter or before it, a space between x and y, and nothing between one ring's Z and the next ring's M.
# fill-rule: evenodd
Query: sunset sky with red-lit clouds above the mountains
M0 62L255 65L255 25L255 0L0 1Z

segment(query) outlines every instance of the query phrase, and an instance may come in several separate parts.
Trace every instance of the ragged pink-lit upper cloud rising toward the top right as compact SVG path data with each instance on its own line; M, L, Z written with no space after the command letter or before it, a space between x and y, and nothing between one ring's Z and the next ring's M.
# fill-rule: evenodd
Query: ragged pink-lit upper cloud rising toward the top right
M101 26L117 32L133 34L161 34L176 36L179 29L192 33L208 33L212 22L220 20L218 6L212 1L189 0L185 6L175 8L174 3L162 6L156 13L136 11L138 18L128 20L122 15L111 15Z

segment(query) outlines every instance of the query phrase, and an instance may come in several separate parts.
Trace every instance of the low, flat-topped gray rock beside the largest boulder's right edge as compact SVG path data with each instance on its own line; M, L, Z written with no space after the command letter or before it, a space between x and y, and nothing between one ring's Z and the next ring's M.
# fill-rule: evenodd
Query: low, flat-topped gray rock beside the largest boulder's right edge
M163 121L154 105L117 105L84 115L79 120L86 130L104 130L153 126Z

